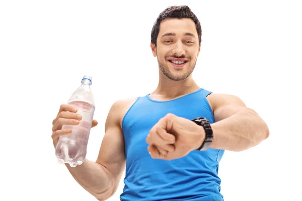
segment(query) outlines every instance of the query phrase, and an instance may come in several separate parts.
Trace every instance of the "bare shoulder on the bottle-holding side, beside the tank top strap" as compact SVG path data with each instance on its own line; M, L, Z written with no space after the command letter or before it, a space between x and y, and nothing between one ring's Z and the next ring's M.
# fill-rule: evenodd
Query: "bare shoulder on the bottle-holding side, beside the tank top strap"
M127 113L127 111L130 109L130 107L135 103L136 99L138 97L129 97L124 99L116 100L109 111L108 114L108 121L112 120L112 118L115 119L115 122L119 124L121 127L122 120Z

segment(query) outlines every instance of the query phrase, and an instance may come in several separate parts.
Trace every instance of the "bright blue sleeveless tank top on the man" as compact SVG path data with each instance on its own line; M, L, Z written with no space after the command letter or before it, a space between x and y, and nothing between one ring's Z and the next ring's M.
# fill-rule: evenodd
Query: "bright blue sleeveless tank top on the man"
M122 201L220 201L218 163L224 150L194 150L187 156L171 161L150 157L145 139L150 129L165 115L194 119L205 117L214 123L207 102L210 94L203 88L169 101L138 97L123 118L126 172Z

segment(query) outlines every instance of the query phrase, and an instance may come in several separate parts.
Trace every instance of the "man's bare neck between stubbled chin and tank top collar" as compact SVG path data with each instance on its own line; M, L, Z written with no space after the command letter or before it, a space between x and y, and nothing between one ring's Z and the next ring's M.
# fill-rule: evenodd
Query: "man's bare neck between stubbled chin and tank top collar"
M192 74L185 80L171 80L160 74L158 87L150 94L160 95L165 99L174 99L199 89L199 86L192 78Z

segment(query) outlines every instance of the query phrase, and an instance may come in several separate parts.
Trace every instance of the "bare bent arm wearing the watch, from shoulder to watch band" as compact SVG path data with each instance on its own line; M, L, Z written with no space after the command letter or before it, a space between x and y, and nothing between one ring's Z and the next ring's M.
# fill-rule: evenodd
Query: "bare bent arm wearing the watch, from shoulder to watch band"
M213 142L210 148L243 151L268 138L266 123L254 110L247 108L240 98L214 93L207 98L216 121L211 124Z

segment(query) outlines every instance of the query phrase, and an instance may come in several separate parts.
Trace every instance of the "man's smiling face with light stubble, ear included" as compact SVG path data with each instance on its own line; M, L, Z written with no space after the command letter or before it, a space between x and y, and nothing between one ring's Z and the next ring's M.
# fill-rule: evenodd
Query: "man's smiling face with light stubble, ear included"
M193 20L165 19L161 22L157 47L151 43L161 72L172 80L184 80L193 72L200 51Z

